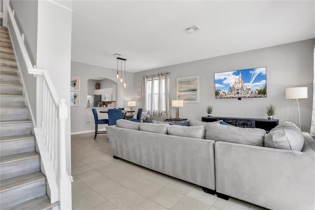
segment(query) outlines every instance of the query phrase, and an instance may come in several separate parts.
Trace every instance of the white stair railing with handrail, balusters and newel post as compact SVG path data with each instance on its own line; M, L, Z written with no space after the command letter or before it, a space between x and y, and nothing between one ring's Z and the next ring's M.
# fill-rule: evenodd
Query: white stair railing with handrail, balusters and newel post
M16 47L19 47L21 51L28 73L36 76L36 119L34 119L31 109L30 112L43 164L41 170L46 175L50 188L50 200L51 203L59 201L61 210L71 210L71 181L66 171L65 149L65 120L68 118L68 107L64 99L59 99L47 70L32 67L31 59L14 18L14 11L11 10L8 0L3 0L4 7L3 11L7 11L7 13L1 14L3 23L7 22L7 18L10 19L13 28L12 32L9 30L10 35L15 35L17 38ZM26 98L28 100L28 97ZM28 105L30 107L30 103Z

